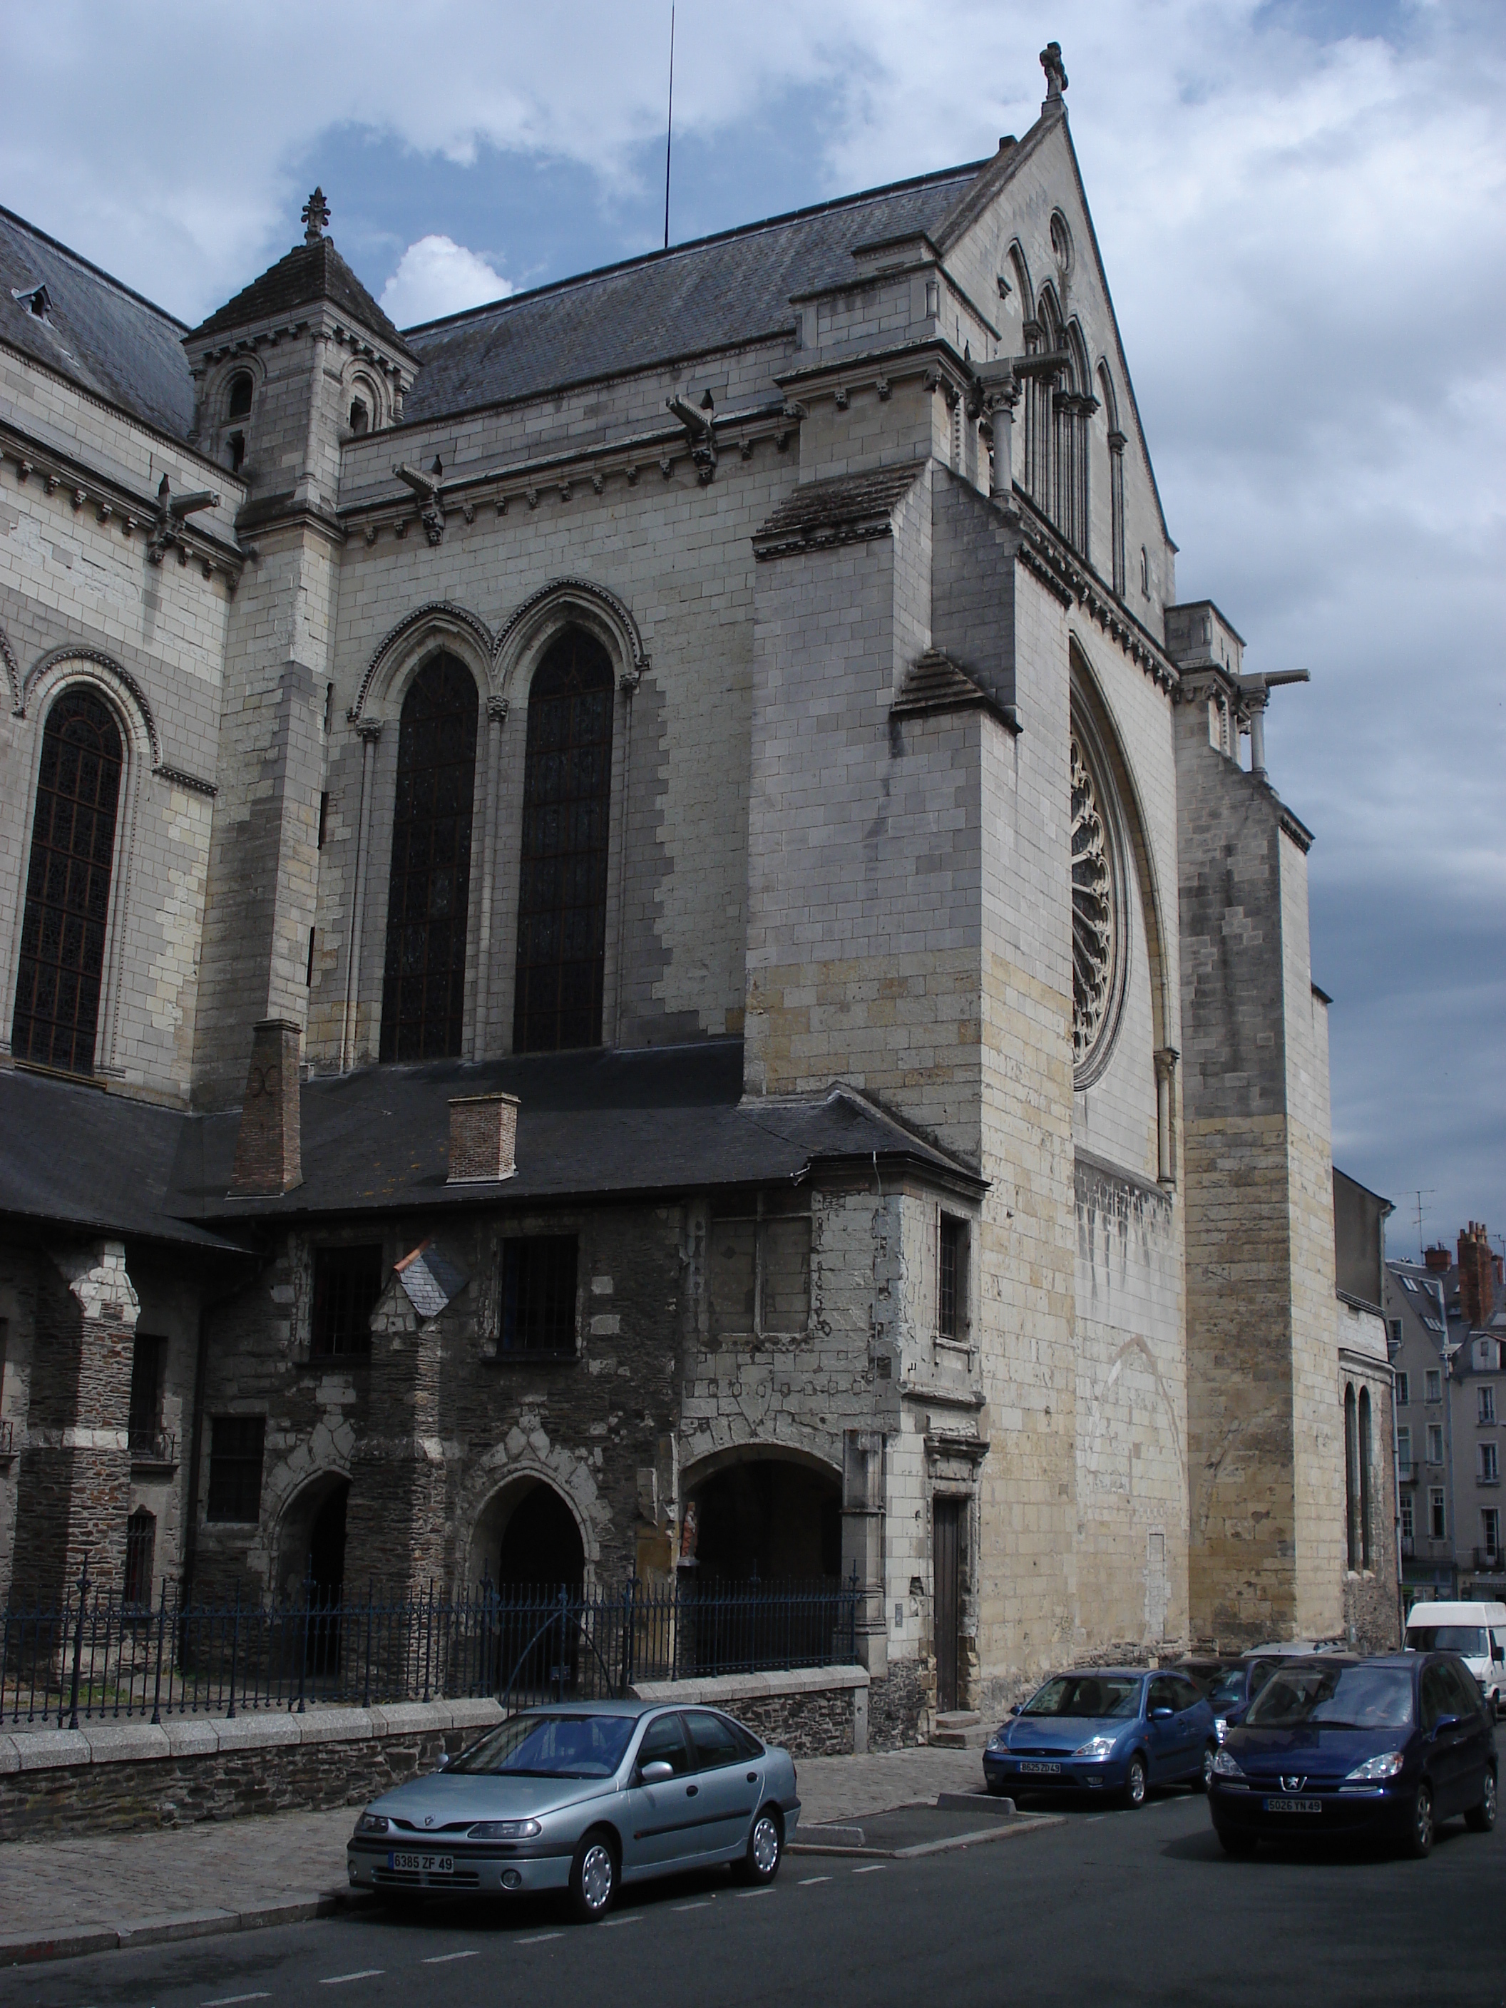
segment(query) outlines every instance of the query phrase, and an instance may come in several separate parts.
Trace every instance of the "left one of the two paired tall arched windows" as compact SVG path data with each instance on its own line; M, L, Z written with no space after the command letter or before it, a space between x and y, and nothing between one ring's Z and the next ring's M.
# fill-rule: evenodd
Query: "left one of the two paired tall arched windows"
M398 729L382 1058L460 1052L476 793L476 681L454 655L420 669Z

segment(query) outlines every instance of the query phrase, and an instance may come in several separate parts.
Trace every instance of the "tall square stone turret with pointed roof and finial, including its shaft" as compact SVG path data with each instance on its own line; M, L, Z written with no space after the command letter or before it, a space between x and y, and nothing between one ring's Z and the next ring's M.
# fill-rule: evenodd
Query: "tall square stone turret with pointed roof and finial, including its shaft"
M416 357L329 237L319 189L303 243L185 335L195 436L239 472L257 562L235 600L209 859L195 1098L247 1078L253 1026L307 1020L325 785L329 649L347 438L402 418Z

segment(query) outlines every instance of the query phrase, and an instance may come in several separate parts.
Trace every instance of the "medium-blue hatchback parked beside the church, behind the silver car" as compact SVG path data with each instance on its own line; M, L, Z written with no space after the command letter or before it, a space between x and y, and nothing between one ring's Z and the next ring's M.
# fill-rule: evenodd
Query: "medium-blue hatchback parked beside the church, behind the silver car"
M1058 1673L994 1735L996 1793L1092 1791L1145 1805L1151 1785L1203 1787L1219 1749L1213 1709L1183 1673Z

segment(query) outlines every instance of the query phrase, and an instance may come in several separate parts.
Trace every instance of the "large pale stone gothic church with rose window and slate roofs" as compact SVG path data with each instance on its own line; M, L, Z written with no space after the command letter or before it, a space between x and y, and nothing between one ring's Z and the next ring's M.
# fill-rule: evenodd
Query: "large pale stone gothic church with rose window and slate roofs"
M1311 839L1046 70L406 333L0 215L0 1596L855 1566L875 1733L1343 1628Z

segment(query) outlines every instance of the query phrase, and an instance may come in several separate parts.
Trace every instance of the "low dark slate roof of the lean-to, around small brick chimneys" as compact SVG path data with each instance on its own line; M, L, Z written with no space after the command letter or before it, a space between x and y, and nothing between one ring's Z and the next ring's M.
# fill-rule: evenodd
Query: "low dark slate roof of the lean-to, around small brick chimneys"
M450 1096L496 1090L520 1100L516 1175L446 1185ZM247 1201L225 1197L239 1110L185 1114L8 1070L0 1215L217 1245L271 1219L715 1191L875 1155L984 1185L851 1088L747 1102L741 1090L741 1040L367 1066L303 1086L303 1185Z

